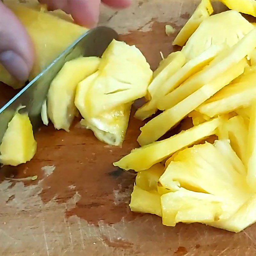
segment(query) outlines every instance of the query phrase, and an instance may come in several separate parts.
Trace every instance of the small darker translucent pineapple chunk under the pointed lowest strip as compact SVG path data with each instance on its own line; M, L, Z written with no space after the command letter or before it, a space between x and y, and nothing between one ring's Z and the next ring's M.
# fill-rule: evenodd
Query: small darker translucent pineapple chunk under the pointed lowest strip
M155 164L148 170L138 172L136 186L146 191L157 191L157 182L163 173L163 164Z

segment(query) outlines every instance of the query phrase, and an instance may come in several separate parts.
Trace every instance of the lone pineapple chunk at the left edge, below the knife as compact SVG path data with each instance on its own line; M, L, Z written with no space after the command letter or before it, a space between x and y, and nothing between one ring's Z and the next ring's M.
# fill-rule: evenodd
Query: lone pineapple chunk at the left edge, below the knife
M16 113L4 133L0 145L0 162L17 166L36 154L36 140L27 114Z

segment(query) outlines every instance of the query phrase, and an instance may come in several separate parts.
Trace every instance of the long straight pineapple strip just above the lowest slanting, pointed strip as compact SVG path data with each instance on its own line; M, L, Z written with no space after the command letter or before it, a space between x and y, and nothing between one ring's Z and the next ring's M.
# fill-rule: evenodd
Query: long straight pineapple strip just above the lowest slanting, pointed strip
M205 100L209 99L213 94L229 84L237 76L243 74L245 65L245 60L240 61L238 64L225 71L221 76L218 76L209 84L205 84L186 99L179 102L176 106L165 110L160 115L151 119L147 124L140 128L141 133L138 137L139 144L147 145L159 139L191 111L200 106Z

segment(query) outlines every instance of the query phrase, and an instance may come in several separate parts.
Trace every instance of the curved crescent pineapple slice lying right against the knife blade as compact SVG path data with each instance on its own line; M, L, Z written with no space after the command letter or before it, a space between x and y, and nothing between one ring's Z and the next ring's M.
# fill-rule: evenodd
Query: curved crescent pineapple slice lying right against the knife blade
M47 98L47 111L55 129L69 132L69 126L76 114L76 86L85 77L96 72L99 65L100 59L97 57L70 60L52 80Z

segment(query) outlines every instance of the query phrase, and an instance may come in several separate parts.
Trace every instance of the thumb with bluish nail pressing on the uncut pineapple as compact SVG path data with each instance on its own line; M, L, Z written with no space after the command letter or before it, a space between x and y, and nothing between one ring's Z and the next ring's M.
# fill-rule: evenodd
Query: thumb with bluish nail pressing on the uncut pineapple
M0 62L20 81L27 80L34 62L34 48L26 29L1 1Z

